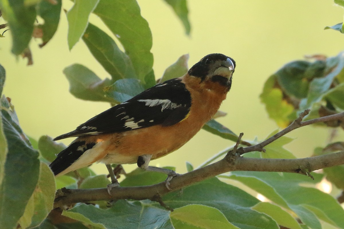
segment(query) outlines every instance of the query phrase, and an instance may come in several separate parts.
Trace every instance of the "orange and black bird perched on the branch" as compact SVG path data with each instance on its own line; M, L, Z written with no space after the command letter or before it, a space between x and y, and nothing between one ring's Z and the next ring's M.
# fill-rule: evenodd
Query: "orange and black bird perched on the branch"
M59 176L103 162L110 188L119 186L111 164L136 163L171 180L174 171L149 162L182 147L214 116L232 86L235 67L224 54L206 55L184 76L156 84L54 138L77 137L49 167Z

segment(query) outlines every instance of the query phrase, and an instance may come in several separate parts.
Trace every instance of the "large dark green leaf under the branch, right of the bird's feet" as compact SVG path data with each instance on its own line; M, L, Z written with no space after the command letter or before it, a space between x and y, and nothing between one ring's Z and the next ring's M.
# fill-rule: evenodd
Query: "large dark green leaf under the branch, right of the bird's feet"
M258 199L217 178L183 188L183 194L177 195L168 193L163 196L163 202L174 209L190 204L216 208L231 224L241 229L278 229L276 222L269 216L251 209L259 203Z

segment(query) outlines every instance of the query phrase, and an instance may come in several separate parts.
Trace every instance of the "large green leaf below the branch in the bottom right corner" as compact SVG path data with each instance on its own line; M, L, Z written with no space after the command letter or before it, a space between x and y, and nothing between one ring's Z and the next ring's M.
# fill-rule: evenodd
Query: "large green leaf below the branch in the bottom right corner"
M300 185L320 182L321 174L314 173L314 181L307 176L293 173L236 171L231 174L230 179L241 181L276 204L293 210L301 221L311 228L321 228L318 218L325 217L332 225L344 228L344 210L332 196L316 188ZM254 180L259 182L252 182ZM266 188L261 188L262 183L265 183Z

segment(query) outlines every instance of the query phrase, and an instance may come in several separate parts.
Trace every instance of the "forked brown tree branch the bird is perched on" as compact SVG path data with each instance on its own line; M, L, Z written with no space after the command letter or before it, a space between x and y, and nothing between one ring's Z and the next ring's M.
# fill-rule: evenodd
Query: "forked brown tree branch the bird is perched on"
M309 121L301 122L309 110L300 114L300 117L271 138L246 148L238 148L235 151L229 151L227 155L213 164L203 168L182 174L170 181L168 190L161 182L159 184L137 187L116 187L112 188L111 196L107 188L94 189L70 189L66 188L56 192L54 207L61 207L66 204L90 202L90 201L111 201L114 199L155 199L166 193L180 190L183 187L193 183L205 180L207 178L230 172L230 171L265 171L265 172L291 172L309 175L311 171L327 168L335 165L344 164L344 151L331 153L322 156L301 158L301 159L263 159L263 158L244 158L240 156L243 153L252 151L262 151L263 147L275 141L279 137L289 133L291 130L310 125L317 122L324 122L335 119L344 119L344 112L326 117L315 118ZM240 135L241 136L241 135Z

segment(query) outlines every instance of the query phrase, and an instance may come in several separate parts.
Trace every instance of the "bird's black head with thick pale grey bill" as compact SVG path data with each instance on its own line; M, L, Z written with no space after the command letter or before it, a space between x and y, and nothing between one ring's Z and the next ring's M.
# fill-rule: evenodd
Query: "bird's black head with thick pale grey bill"
M235 61L223 54L209 54L198 61L187 72L188 77L196 78L209 90L224 88L228 92L232 85Z

